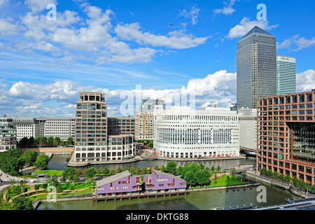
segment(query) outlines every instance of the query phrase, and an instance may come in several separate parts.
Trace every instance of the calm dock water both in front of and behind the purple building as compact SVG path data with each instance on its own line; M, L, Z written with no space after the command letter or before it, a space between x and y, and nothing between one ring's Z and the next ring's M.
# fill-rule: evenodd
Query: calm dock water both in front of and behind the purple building
M53 155L48 164L48 169L65 169L66 160L69 155ZM205 166L217 167L220 165L224 168L233 167L235 165L249 165L255 164L255 158L246 158L246 160L216 160L205 161ZM158 165L166 166L167 161L163 160L146 160L141 162L132 162L130 167L155 167ZM177 162L177 165L184 165L185 162ZM104 169L104 167L111 167L116 169L117 167L129 167L129 165L97 165L95 169ZM86 169L87 167L85 167ZM84 169L84 167L82 168ZM284 204L286 198L296 197L288 190L283 190L276 186L269 186L263 184L266 187L267 200L266 202L257 202L257 197L260 191L257 191L257 187L253 188L239 188L233 190L204 190L189 193L188 195L173 195L171 197L150 197L140 198L139 200L109 200L94 202L93 200L80 200L69 202L55 202L41 203L38 210L207 210L214 207L227 207L237 204L256 204L260 207ZM245 190L244 190L245 189Z

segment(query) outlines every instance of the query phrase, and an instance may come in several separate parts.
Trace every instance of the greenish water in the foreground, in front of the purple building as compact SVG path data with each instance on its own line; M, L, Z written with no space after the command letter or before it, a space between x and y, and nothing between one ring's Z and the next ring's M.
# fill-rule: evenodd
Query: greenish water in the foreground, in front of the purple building
M202 190L187 195L171 197L141 197L132 200L109 200L94 202L93 200L78 200L68 202L48 203L38 206L38 210L209 210L214 207L227 207L237 204L252 203L259 207L285 204L286 198L296 197L288 190L275 186L266 187L266 202L258 202L260 191L257 187L239 188L233 190ZM246 189L246 190L244 190Z

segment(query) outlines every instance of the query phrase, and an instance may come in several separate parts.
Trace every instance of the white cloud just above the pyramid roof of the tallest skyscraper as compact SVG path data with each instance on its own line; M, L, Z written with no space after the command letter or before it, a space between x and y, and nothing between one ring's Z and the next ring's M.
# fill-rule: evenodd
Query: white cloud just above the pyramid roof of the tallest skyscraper
M232 27L229 31L228 38L237 38L242 37L248 33L253 27L258 26L261 29L269 30L278 27L278 25L271 25L269 26L269 22L267 20L253 20L251 21L250 18L244 17L239 25Z

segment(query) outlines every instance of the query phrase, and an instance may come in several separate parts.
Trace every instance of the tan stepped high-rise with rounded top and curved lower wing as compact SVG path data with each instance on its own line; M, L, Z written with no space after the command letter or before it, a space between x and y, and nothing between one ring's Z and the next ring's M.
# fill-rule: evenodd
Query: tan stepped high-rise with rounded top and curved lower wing
M134 118L107 118L102 92L80 92L76 102L75 162L122 160L134 155Z

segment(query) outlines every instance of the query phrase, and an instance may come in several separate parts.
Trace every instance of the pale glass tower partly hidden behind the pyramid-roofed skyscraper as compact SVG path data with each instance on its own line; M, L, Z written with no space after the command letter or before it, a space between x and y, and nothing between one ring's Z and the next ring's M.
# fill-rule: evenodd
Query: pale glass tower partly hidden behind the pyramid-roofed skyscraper
M276 56L276 94L296 92L295 57Z

